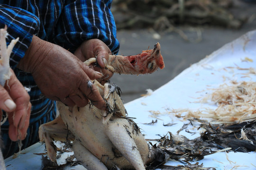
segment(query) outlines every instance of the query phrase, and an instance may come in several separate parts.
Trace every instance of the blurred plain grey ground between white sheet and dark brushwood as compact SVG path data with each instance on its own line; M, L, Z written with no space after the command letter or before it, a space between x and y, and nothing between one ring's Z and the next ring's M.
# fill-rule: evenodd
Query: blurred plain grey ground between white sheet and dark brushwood
M111 81L119 85L122 90L124 103L137 99L146 89L155 90L172 80L191 64L196 63L228 42L231 42L248 31L256 29L256 4L236 1L232 9L234 15L247 16L248 22L238 30L214 26L180 26L191 42L185 41L179 34L169 32L161 34L155 39L152 29L119 30L120 55L133 55L142 50L154 48L154 44L161 44L165 68L150 75L132 76L115 74ZM199 35L199 36L198 36ZM201 41L196 42L201 37ZM230 61L232 62L232 61ZM170 96L172 97L172 96Z

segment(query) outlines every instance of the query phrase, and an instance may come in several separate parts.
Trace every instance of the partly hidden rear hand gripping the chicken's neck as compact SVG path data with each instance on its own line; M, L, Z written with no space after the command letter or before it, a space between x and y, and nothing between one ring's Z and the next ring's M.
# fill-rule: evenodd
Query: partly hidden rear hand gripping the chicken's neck
M74 55L81 61L96 57L98 65L92 68L103 74L101 82L102 84L113 76L113 73L105 68L110 54L111 51L109 47L99 39L90 39L84 41L74 52Z

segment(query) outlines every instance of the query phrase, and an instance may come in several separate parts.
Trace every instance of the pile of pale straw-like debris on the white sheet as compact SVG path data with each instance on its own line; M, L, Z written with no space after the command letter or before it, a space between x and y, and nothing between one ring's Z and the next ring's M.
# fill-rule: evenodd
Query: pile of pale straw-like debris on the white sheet
M236 124L256 120L256 82L232 82L210 89L213 92L204 96L201 103L217 106L217 109L173 110L177 117L208 119L211 124Z

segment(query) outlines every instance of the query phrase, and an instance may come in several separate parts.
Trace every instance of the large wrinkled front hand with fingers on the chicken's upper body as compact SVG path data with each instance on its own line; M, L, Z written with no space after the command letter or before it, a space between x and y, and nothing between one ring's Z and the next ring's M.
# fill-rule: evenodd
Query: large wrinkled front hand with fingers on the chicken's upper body
M91 80L101 78L64 48L33 36L31 45L18 68L32 73L41 92L68 106L83 107L88 99L101 110L106 109L101 94Z

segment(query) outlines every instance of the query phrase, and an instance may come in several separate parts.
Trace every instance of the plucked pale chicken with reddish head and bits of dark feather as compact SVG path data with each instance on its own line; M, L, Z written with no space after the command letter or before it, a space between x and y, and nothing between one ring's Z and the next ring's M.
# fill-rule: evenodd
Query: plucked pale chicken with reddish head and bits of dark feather
M85 61L90 65L95 58ZM134 56L110 55L106 66L119 74L148 74L157 68L164 68L160 44L153 50L142 51ZM58 102L60 112L55 120L41 125L40 141L46 143L51 161L56 159L56 148L53 140L73 141L76 159L88 170L108 170L112 167L120 169L145 170L145 166L155 159L155 151L151 151L142 136L137 124L127 118L127 111L119 96L119 87L115 84L96 85L107 103L107 110L99 110L92 102L83 108L72 108Z

